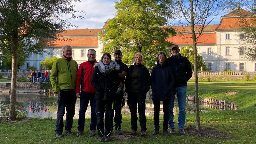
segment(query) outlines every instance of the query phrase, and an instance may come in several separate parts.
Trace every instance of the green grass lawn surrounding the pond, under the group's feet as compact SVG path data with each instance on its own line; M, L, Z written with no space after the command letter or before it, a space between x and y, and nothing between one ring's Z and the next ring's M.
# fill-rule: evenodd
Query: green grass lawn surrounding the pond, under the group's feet
M200 113L202 132L207 135L207 130L212 130L212 137L199 136L190 133L194 127L195 113L187 113L185 124L185 136L179 134L164 137L162 129L160 134L153 136L154 120L153 116L147 116L146 137L128 136L131 130L130 116L123 116L122 130L124 135L119 137L113 131L111 141L108 143L148 143L148 144L172 144L172 143L256 143L256 82L254 81L219 81L206 82L199 81L199 96L214 99L225 99L236 102L238 110L217 110L207 109L208 113ZM188 82L188 95L194 95L194 82ZM228 95L227 92L237 92ZM178 116L175 116L177 121ZM77 119L73 122L72 132L77 133ZM163 116L160 116L160 123ZM0 121L1 143L100 143L97 136L91 137L89 131L90 119L86 119L84 135L81 137L65 136L61 139L55 138L55 119L31 118L29 121L8 122ZM138 122L138 126L139 126ZM160 124L161 125L161 124ZM177 124L176 124L177 126ZM140 132L140 126L137 135ZM208 131L209 132L209 131ZM218 137L214 136L214 133ZM177 133L177 127L176 127ZM221 135L222 134L222 135ZM102 142L101 142L102 143Z

